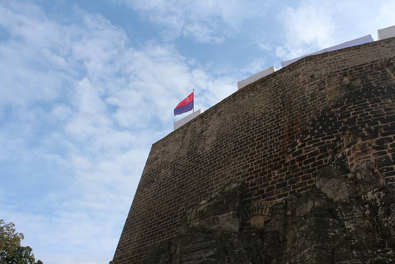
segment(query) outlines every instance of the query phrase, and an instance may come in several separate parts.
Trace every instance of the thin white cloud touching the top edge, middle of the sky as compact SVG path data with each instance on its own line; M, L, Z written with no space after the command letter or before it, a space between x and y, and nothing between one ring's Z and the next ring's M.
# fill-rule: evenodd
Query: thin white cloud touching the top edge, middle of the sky
M165 38L183 35L199 43L221 43L246 20L262 16L268 1L259 0L114 0L164 27Z

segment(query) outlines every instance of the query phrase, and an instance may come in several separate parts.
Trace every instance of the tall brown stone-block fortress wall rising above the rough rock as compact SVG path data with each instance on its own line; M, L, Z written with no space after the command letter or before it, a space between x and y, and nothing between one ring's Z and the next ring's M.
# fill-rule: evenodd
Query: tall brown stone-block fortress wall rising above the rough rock
M245 87L151 149L113 264L174 237L187 210L225 183L244 205L310 189L345 153L395 187L395 38L305 57Z

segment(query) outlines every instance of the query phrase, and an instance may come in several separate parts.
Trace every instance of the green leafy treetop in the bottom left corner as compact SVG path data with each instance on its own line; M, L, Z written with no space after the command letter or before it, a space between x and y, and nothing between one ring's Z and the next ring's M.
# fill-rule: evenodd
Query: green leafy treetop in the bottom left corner
M17 233L14 223L0 219L0 264L42 264L36 262L31 247L21 246L23 233Z

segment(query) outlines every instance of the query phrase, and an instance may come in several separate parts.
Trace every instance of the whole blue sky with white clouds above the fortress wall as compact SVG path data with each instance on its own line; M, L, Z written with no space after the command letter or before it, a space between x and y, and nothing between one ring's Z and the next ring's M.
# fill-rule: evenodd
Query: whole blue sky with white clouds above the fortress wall
M0 0L0 219L44 264L112 260L151 145L272 65L395 25L395 0Z

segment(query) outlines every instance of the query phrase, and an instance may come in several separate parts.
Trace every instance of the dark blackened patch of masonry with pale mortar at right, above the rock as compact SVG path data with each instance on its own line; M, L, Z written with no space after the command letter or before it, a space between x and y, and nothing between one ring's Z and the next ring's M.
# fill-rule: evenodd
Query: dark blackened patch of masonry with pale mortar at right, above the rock
M293 142L288 163L325 166L345 153L350 170L368 159L386 183L395 183L394 85L350 91L317 113Z

